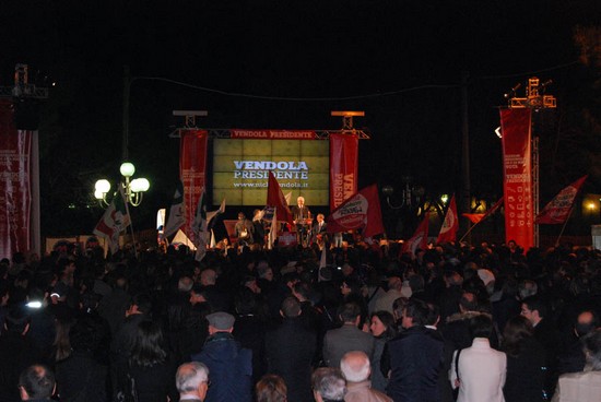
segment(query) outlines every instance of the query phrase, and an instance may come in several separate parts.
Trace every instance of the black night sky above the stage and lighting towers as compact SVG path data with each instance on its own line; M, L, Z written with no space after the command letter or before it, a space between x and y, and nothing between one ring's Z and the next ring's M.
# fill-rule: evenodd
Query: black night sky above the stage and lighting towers
M152 5L151 5L152 4ZM530 76L553 80L558 108L537 116L542 199L589 173L601 184L599 140L581 127L593 73L579 63L576 26L599 24L600 1L16 1L0 4L0 85L14 64L51 86L40 110L43 232L91 228L93 184L118 177L122 74L131 87L130 159L151 180L141 206L152 226L178 175L181 120L204 128L340 129L330 110L365 110L355 126L360 187L428 197L461 185L461 74L469 73L472 194L502 193L498 106ZM202 88L200 88L202 87ZM60 189L60 190L59 190ZM546 198L545 198L546 197ZM71 205L71 208L69 208Z

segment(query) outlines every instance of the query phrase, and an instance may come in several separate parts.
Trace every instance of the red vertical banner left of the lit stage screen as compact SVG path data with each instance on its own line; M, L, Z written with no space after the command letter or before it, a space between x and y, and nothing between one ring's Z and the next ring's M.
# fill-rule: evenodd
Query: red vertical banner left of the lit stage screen
M179 146L179 177L184 184L186 224L184 232L195 241L192 222L207 175L207 145L209 135L203 130L181 130Z

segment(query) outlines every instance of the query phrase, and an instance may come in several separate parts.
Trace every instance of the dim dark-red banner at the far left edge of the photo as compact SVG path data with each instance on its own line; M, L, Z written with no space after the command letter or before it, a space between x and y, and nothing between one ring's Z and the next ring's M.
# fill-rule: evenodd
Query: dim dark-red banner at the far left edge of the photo
M12 102L0 100L0 258L30 250L32 132L16 130Z

